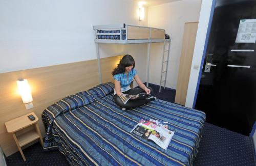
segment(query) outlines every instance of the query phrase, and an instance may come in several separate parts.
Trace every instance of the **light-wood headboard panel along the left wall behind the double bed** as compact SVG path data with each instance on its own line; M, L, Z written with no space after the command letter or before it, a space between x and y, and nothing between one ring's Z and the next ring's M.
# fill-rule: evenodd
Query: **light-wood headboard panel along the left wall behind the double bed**
M103 82L112 81L111 71L120 61L120 56L101 59ZM16 80L28 79L34 108L26 109L17 92ZM18 151L5 122L34 112L39 118L39 128L45 136L41 113L49 105L71 94L86 91L99 84L97 60L40 67L0 74L0 145L6 156Z

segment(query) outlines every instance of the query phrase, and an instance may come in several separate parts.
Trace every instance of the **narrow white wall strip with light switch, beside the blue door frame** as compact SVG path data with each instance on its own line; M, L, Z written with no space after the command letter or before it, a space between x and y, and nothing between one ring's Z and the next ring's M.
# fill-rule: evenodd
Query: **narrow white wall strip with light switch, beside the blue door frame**
M186 103L185 103L185 106L190 108L193 107L193 102L194 102L195 93L196 93L197 84L198 84L197 81L198 81L199 72L200 72L200 70L193 69L193 67L195 65L199 65L201 66L200 69L202 69L203 64L201 64L201 61L203 57L211 6L212 6L212 0L202 0L202 7L201 7L200 18L199 18L197 37L196 37L193 60L191 64L188 89L187 89L187 97L186 97Z

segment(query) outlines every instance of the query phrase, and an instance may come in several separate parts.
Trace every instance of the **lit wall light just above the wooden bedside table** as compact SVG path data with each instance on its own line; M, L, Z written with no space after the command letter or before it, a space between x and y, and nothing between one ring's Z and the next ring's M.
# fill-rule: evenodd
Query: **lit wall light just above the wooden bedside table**
M19 79L17 80L17 85L18 85L18 91L20 96L22 97L23 103L25 103L26 109L33 108L33 98L31 95L31 90L28 84L27 79Z

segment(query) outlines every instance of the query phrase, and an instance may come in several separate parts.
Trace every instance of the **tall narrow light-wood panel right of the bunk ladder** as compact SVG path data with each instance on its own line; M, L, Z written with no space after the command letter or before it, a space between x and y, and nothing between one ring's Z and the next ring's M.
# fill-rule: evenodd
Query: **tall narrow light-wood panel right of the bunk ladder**
M185 105L188 81L196 42L198 22L186 22L184 27L175 103Z

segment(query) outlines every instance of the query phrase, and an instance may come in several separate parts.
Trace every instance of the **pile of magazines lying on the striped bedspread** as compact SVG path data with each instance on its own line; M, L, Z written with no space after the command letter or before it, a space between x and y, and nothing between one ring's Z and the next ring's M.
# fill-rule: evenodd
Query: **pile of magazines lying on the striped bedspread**
M158 146L165 150L168 148L174 135L174 131L166 129L163 125L157 125L143 119L132 129L131 133L142 137L145 140L154 141Z

